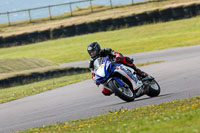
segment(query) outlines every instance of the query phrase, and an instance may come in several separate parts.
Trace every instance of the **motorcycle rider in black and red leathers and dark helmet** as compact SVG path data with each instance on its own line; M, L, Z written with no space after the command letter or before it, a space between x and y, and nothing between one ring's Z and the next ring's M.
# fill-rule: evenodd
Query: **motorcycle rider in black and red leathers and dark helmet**
M133 64L133 59L123 56L121 53L115 52L111 48L101 49L101 46L99 45L98 42L90 43L87 47L87 51L91 57L91 60L89 62L89 69L92 73L93 80L95 80L94 79L95 74L93 72L94 71L94 61L98 57L109 57L114 62L122 63L126 66L133 68L140 77L144 78L147 76L147 74L145 72L141 71L140 69L138 69L135 66L135 64ZM96 83L96 85L99 85L99 84ZM112 92L106 88L102 88L102 93L106 96L109 96L112 94Z

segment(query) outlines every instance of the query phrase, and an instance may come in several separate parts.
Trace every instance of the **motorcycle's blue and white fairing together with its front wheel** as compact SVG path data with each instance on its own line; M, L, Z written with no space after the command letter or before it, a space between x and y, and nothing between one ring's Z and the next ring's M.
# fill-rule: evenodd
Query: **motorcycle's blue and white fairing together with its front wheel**
M114 63L108 57L99 57L94 61L95 81L125 101L133 101L143 86L134 69Z

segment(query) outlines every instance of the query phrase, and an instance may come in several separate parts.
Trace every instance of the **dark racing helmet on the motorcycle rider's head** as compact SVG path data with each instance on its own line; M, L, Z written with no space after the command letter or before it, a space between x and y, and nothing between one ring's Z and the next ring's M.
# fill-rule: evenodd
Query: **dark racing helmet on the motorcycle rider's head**
M87 51L92 59L95 59L99 56L101 51L101 46L98 42L92 42L88 45Z

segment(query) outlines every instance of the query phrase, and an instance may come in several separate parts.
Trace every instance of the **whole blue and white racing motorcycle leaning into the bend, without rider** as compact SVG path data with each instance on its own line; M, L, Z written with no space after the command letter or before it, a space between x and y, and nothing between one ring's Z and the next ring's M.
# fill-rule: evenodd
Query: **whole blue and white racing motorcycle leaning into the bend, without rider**
M108 57L99 57L94 61L94 73L97 84L102 84L127 102L144 94L150 97L160 94L160 86L155 78L150 75L141 78L133 68L112 62Z

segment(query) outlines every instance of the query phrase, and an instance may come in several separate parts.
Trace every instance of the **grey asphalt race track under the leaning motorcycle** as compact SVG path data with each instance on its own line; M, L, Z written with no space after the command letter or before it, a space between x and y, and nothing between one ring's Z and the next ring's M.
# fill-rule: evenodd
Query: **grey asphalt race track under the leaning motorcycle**
M0 104L0 133L88 118L119 109L160 104L177 99L200 96L200 45L129 55L135 63L165 62L140 67L153 75L161 86L161 94L142 96L134 102L103 96L101 87L92 80ZM87 61L81 63L87 66ZM73 65L71 63L64 65Z

